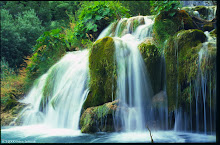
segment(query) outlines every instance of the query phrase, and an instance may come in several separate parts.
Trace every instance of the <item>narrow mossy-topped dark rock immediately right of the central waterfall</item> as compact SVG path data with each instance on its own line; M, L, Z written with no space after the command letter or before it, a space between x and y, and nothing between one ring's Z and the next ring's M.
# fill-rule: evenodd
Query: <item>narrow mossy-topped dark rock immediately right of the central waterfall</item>
M144 62L147 66L147 72L151 80L153 93L156 94L163 89L163 62L159 49L153 44L152 39L146 39L138 46Z

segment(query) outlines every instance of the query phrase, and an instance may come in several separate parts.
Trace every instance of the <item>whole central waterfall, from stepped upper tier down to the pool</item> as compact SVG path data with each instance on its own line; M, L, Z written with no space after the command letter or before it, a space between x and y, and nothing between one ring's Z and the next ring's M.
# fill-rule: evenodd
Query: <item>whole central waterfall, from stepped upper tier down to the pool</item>
M136 29L134 21L139 23ZM152 37L153 23L152 16L123 18L118 21L115 32L109 34L109 30L105 30L100 34L101 37L99 36L99 39L108 35L114 36L118 76L117 98L119 106L126 108L116 111L115 116L120 116L114 118L116 130L120 126L122 131L144 131L146 125L153 126L152 122L155 120L161 122L161 129L168 128L167 103L160 108L152 108L152 88L138 49L141 42ZM111 26L112 24L107 29ZM146 109L144 106L150 107ZM156 111L158 114L155 114Z

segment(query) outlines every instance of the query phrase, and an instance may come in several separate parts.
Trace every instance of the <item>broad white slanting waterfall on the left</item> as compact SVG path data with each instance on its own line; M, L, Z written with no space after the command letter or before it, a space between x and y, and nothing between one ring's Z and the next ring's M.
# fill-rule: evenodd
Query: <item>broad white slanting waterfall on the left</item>
M34 84L21 102L29 104L23 125L79 129L82 104L88 88L88 50L68 52Z

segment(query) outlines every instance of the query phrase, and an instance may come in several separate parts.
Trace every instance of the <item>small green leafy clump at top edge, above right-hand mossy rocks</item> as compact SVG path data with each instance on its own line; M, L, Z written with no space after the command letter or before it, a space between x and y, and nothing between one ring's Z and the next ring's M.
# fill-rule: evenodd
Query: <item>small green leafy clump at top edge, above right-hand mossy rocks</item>
M172 11L172 10L177 10L179 7L181 7L179 1L150 1L151 5L151 12L153 14L159 15L161 12L164 11ZM174 16L175 11L172 13L169 13L169 16Z

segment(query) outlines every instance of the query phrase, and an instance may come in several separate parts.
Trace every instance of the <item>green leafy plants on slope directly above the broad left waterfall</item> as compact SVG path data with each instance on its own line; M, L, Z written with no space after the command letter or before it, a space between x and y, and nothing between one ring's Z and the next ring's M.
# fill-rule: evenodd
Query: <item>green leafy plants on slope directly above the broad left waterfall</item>
M28 79L33 81L38 78L64 55L69 45L64 37L62 29L54 29L44 32L37 39L34 54L27 66Z

